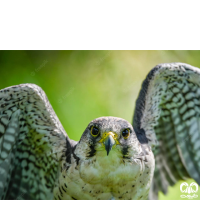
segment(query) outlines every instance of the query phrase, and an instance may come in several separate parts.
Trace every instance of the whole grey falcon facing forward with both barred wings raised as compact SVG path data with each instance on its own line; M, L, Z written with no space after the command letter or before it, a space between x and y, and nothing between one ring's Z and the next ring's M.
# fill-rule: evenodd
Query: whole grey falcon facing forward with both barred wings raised
M145 200L193 178L200 185L200 70L154 67L143 81L132 125L91 121L71 140L44 91L0 91L0 199Z

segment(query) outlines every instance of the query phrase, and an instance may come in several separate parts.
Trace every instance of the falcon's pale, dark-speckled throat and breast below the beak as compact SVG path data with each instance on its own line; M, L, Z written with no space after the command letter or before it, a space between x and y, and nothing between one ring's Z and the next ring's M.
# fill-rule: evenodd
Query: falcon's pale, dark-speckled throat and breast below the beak
M54 195L59 195L63 200L109 200L134 199L143 194L145 199L150 187L147 184L150 178L146 172L149 173L151 169L145 169L143 164L137 159L127 162L117 148L109 156L105 150L97 151L96 156L80 160L79 166L72 156L72 164L67 171L60 174L59 187L54 189Z

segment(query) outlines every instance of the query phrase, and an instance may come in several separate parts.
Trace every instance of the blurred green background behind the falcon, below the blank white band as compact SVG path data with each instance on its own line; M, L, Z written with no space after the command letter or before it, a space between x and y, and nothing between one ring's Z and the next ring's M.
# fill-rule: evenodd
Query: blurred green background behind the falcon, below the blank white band
M94 118L131 122L142 81L165 62L200 67L200 51L0 51L0 89L39 85L69 137L79 140ZM181 199L180 183L159 199ZM200 190L197 194L200 199Z

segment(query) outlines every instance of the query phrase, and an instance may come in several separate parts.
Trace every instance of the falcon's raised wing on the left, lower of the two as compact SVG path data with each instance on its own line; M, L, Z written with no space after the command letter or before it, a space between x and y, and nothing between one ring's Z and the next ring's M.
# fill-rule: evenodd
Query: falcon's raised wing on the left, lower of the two
M0 199L52 199L59 161L72 143L40 87L1 90Z

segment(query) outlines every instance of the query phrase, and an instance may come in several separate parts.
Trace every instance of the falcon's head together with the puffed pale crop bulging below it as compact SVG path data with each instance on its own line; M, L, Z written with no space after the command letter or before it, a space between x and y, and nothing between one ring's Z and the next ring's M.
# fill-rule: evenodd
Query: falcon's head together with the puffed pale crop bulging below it
M112 188L136 180L142 166L138 159L141 152L141 144L129 122L101 117L85 129L72 162L78 161L76 168L85 182Z

